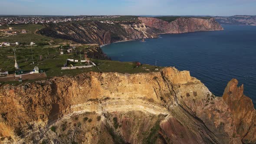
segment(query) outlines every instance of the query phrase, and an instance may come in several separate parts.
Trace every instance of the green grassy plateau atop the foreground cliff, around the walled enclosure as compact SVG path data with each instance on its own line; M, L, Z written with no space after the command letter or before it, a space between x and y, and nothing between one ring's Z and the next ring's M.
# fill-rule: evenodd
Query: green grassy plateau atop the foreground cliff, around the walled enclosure
M118 62L110 60L98 60L91 59L97 66L86 69L73 69L73 70L61 70L61 67L66 63L66 59L78 59L80 60L79 49L90 50L94 45L77 47L78 52L65 53L60 55L59 48L18 48L16 49L17 62L20 65L20 69L25 72L31 72L34 66L38 66L39 69L43 69L48 79L55 76L64 75L77 75L83 72L119 72L119 73L139 73L139 72L154 72L156 67L152 65L142 65L138 68L135 66L135 62ZM33 50L33 60L32 60ZM42 56L42 60L40 59ZM84 59L84 56L81 55ZM2 71L9 71L9 74L15 72L14 69L14 55L13 50L10 48L0 49L0 69ZM34 64L33 64L34 62ZM161 69L160 67L157 67ZM7 82L12 83L12 82ZM14 82L15 83L15 82Z

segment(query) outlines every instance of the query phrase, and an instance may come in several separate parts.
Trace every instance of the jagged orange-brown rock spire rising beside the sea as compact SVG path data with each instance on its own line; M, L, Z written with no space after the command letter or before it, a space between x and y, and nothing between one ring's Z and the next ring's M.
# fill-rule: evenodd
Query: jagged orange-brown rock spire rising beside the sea
M233 115L236 131L243 143L256 143L256 111L250 98L243 95L243 85L237 87L238 81L232 79L223 94L223 99L229 105Z

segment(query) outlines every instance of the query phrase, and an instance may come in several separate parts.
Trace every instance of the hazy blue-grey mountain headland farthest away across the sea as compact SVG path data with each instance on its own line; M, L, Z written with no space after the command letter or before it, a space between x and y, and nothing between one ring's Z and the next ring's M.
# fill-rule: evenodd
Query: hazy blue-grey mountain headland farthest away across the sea
M215 20L220 24L256 26L256 16L216 16Z

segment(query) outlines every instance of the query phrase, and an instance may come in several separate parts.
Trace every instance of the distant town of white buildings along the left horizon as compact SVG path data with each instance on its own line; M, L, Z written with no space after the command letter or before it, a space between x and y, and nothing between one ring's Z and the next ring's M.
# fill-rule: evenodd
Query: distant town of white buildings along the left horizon
M40 23L62 23L71 21L83 21L92 19L118 18L120 16L10 16L0 17L0 26L10 24L40 24Z

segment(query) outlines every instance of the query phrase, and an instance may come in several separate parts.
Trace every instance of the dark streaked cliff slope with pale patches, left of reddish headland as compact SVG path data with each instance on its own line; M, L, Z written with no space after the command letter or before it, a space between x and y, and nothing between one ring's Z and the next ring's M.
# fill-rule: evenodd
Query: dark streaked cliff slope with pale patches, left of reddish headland
M77 43L109 44L122 40L154 38L154 30L138 22L78 22L46 25L38 33Z

